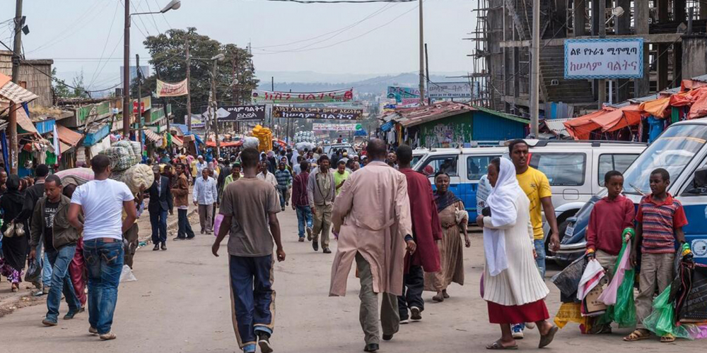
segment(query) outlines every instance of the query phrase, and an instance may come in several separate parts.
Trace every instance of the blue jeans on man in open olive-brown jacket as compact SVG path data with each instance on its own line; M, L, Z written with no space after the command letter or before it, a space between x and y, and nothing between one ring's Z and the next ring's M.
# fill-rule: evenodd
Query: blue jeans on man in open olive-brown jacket
M69 263L74 259L76 244L65 245L61 249L52 249L45 252L49 257L49 264L52 265L52 282L47 296L47 321L57 322L59 316L59 305L62 303L62 292L66 297L66 304L69 304L69 312L78 311L81 302L74 292L74 284L69 275Z

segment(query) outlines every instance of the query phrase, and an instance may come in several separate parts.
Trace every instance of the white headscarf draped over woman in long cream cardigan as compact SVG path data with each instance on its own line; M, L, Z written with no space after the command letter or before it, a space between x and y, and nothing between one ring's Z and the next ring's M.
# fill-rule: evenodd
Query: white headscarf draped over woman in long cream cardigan
M498 171L498 180L493 187L486 205L491 208L491 225L501 227L515 223L518 218L518 206L515 201L522 193L518 179L515 178L513 162L501 158L501 168ZM508 268L506 255L506 231L484 227L484 252L489 273L496 276Z

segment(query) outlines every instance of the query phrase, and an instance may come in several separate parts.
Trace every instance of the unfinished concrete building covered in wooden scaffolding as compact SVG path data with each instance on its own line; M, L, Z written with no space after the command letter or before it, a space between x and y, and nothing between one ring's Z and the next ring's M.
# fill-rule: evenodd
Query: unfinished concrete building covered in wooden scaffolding
M707 73L704 0L476 0L470 80L477 104L529 116L532 6L540 6L541 116L567 118L680 85ZM603 4L602 4L603 3ZM587 80L564 76L566 39L643 38L643 78ZM609 90L612 86L612 90ZM611 92L611 93L609 93Z

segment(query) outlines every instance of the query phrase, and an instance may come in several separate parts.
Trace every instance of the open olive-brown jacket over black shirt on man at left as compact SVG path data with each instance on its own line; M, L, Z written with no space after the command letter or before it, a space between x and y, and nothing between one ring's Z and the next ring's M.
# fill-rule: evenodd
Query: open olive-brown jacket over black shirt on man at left
M45 205L47 197L40 198L35 206L35 213L32 215L32 227L30 227L30 246L35 248L39 244L45 229ZM81 238L81 232L78 232L74 226L69 223L69 204L71 198L62 195L59 200L59 209L54 215L54 226L52 227L52 244L54 249L59 249L64 245L74 244ZM78 221L83 223L83 215L78 215Z

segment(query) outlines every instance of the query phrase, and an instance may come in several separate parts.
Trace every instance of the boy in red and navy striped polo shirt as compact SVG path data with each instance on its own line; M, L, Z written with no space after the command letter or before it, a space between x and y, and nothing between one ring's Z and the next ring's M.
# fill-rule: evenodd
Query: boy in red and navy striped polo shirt
M653 294L656 287L662 293L673 280L672 268L675 258L675 241L685 242L682 227L687 225L685 211L680 201L667 193L670 174L659 168L650 173L650 195L643 197L636 213L636 242L631 251L631 263L636 265L636 251L641 244L640 288L636 297L636 319L638 325L626 341L643 340L650 333L643 326L643 319L653 309ZM670 334L660 337L660 342L675 340Z

